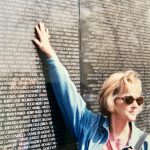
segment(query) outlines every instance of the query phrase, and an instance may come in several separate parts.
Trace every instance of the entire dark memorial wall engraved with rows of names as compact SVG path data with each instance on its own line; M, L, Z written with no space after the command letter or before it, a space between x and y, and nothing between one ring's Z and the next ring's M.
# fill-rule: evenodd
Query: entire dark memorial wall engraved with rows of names
M110 74L137 71L145 106L136 123L150 132L148 0L0 0L0 150L76 149L32 43L39 21L94 112Z

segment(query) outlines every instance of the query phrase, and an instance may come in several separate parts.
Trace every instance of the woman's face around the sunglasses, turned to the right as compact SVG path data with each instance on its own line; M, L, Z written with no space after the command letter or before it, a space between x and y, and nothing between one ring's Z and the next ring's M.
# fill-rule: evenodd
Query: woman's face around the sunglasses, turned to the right
M124 93L119 95L117 99L115 99L115 113L116 117L119 117L121 120L125 121L135 121L137 115L142 110L142 105L138 105L138 103L134 100L131 104L126 104L122 98L126 96L132 96L134 99L138 98L140 95L137 95L134 92Z

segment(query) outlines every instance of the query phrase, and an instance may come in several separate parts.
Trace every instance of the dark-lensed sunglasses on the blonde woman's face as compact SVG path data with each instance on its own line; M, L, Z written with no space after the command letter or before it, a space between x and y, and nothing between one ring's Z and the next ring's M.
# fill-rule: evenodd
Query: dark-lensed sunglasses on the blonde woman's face
M123 102L127 105L132 104L134 101L136 101L139 106L144 103L144 97L142 96L137 98L134 98L133 96L116 97L115 100L117 99L122 99Z

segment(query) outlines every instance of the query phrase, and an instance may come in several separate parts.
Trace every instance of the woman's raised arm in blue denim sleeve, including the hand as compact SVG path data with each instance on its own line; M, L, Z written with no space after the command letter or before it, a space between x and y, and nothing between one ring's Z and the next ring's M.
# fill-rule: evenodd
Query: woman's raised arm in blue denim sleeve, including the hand
M48 29L43 23L39 23L36 28L37 38L33 41L46 55L49 78L64 119L71 129L72 133L79 140L83 134L83 126L92 125L91 118L94 119L93 113L86 108L74 83L71 81L66 68L60 63L49 43Z

